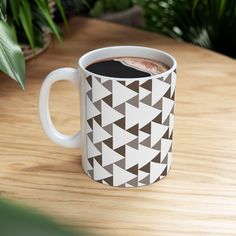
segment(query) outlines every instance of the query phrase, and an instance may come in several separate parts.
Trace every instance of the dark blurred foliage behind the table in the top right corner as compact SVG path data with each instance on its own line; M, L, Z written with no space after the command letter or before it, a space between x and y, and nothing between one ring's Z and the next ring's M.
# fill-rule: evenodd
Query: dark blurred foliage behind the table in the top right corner
M146 28L236 57L235 0L136 0Z

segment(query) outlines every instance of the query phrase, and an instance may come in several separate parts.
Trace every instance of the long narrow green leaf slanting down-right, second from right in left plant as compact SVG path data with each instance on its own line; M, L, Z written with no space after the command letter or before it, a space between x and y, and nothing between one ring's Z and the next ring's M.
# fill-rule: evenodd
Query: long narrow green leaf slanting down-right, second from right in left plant
M55 23L52 20L52 16L48 8L48 3L43 0L35 0L35 2L37 3L38 8L41 11L42 15L44 16L45 20L48 22L48 25L51 28L52 32L56 35L57 39L61 42L61 37Z

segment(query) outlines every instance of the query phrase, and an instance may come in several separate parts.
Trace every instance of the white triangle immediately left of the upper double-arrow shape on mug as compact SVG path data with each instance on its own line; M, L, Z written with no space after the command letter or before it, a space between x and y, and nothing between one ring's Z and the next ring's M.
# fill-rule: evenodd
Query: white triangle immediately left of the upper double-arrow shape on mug
M107 105L104 101L102 101L102 126L109 125L114 123L115 121L124 117L121 113L116 111L114 108Z

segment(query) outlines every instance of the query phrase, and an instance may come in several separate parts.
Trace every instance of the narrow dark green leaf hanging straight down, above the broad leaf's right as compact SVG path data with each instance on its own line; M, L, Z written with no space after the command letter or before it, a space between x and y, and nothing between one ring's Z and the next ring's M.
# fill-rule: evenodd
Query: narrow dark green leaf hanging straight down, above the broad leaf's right
M19 17L25 34L29 40L32 49L35 48L33 22L29 2L27 0L21 0L21 7L19 11Z

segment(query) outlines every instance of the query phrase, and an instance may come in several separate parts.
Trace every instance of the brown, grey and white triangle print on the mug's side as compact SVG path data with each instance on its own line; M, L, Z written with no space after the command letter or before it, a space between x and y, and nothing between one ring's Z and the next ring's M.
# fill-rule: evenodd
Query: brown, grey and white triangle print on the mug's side
M165 78L86 78L85 168L92 179L138 187L167 175L175 87L176 71Z

